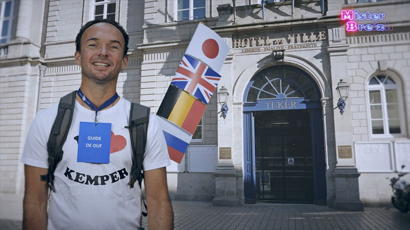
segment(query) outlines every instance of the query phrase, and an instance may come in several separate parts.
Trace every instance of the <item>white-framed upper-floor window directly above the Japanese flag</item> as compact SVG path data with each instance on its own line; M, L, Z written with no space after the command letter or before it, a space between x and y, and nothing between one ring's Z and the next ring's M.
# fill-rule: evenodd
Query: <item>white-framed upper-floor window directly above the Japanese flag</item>
M205 18L205 0L175 0L177 21Z

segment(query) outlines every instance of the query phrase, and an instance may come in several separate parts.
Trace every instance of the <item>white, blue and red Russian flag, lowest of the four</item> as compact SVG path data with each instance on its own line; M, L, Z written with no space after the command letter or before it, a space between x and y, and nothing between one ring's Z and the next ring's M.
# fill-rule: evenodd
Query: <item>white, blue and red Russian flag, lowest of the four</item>
M160 117L159 121L164 132L169 158L177 163L181 163L192 135L163 117Z

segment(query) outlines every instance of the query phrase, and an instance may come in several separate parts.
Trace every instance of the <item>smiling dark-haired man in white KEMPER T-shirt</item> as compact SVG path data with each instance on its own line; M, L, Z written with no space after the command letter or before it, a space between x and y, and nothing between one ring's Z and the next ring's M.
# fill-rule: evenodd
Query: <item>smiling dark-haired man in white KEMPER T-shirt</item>
M82 67L81 94L76 96L63 158L54 173L56 191L50 192L47 213L48 185L40 177L47 174L47 140L58 108L54 105L36 115L21 157L25 164L23 229L142 229L141 190L127 184L132 150L124 126L128 125L130 102L116 96L118 74L128 62L127 45L128 35L114 21L90 21L77 35L75 60ZM108 106L99 110L101 105ZM157 119L156 115L149 117L144 184L149 229L167 230L173 228L165 171L170 160ZM87 131L80 122L92 123L91 129L111 124L111 130L104 131L111 132L108 164L78 161L78 154L84 152L78 148L79 135Z

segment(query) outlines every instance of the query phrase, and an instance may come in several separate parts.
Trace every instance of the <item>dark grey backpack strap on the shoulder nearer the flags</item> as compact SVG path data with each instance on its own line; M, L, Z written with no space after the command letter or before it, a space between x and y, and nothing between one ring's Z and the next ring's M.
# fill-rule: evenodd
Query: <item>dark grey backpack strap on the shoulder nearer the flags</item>
M132 167L130 181L128 184L134 188L134 183L138 181L141 188L143 181L143 158L145 153L146 134L149 122L150 108L131 103L129 122L125 128L129 129L129 135L132 148Z

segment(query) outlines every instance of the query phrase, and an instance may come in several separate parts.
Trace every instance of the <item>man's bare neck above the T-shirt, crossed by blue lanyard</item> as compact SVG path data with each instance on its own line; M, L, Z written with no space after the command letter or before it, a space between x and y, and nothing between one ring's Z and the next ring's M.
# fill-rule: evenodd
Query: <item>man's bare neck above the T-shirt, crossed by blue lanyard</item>
M110 84L110 85L96 85L93 84L88 85L85 82L81 83L81 91L82 93L94 104L96 108L98 108L100 105L102 105L105 101L107 101L109 98L114 96L116 93L116 85ZM91 109L88 107L84 101L80 98L80 96L76 96L77 101L80 102L82 106L85 108ZM115 105L118 101L120 100L120 97L117 98L117 100L114 101L110 106L107 108L112 107Z

